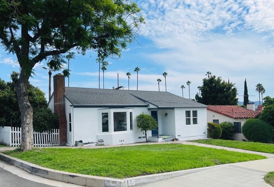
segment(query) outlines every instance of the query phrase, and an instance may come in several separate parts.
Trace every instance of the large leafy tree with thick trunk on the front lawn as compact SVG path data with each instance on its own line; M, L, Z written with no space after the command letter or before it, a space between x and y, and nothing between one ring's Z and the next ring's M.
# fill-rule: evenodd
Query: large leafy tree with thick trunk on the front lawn
M33 109L26 87L34 65L42 60L61 63L62 54L71 49L96 51L101 60L120 56L139 35L138 26L144 23L140 11L129 0L1 0L0 42L21 67L16 85L21 151L33 148Z

